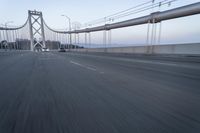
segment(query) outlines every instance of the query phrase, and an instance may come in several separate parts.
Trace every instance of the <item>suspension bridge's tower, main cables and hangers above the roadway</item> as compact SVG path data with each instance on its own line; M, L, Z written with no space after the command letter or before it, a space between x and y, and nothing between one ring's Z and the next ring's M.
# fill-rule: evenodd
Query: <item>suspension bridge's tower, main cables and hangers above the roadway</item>
M22 26L8 28L7 25L5 25L5 27L0 27L0 48L42 51L42 48L48 48L51 50L58 49L61 47L62 44L65 44L64 46L69 49L91 47L91 33L98 31L103 31L103 44L106 45L111 44L111 30L142 24L149 24L147 30L146 45L155 45L157 37L156 26L158 23L170 19L199 14L199 5L199 3L195 3L163 12L153 12L150 15L122 22L105 24L85 29L75 29L73 31L54 30L47 25L47 23L43 19L42 12L28 11L28 18ZM152 33L150 31L150 28L152 30ZM159 31L159 36L157 37L158 43L160 42L160 32L161 31ZM80 34L83 34L85 36L84 42L82 42L81 44ZM72 42L72 40L74 40L74 42ZM72 45L72 43L74 45ZM152 53L152 51L150 53Z

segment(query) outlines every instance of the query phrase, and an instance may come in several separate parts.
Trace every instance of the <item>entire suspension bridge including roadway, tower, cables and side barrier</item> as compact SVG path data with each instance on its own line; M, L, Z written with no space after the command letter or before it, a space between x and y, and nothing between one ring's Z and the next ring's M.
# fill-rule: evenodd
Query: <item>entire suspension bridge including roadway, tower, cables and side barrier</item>
M169 3L134 13L162 4ZM200 2L74 29L69 22L69 30L51 28L36 10L21 26L6 23L0 27L0 132L200 132L200 44L159 45L163 21L199 14ZM112 30L144 24L146 45L109 47ZM91 38L100 31L97 48Z

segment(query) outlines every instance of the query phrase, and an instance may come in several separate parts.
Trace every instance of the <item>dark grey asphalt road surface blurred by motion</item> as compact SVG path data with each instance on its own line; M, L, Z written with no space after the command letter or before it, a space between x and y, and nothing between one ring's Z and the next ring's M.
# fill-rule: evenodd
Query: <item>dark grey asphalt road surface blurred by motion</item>
M0 133L199 133L200 58L0 52Z

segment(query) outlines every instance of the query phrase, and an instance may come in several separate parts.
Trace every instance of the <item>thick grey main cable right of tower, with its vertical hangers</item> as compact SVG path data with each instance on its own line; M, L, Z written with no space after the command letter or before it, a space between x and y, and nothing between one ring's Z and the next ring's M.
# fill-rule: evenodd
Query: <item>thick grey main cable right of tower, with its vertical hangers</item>
M142 10L149 10L155 7L161 7L161 5L166 5L170 4L174 1L177 0L163 0L162 3L154 3L152 5L148 5L145 8L140 8ZM160 8L159 8L160 9ZM141 10L134 10L140 12ZM133 13L133 12L129 12ZM111 45L112 42L112 29L117 29L117 28L123 28L123 27L130 27L130 26L136 26L136 25L142 25L142 24L148 24L151 25L152 31L150 32L148 28L148 33L147 33L147 44L155 44L155 43L160 43L160 37L161 37L161 22L164 20L170 20L174 18L179 18L179 17L185 17L185 16L190 16L190 15L195 15L195 14L200 14L200 2L190 4L187 6L183 7L178 7L175 9L170 9L166 11L157 11L157 12L151 12L150 15L134 18L134 19L129 19L121 22L115 22L111 24L105 24L105 25L100 25L96 27L90 27L90 28L85 28L85 29L75 29L73 31L61 31L61 30L54 30L50 28L46 23L45 26L51 31L55 32L57 34L80 34L80 33L85 33L85 39L83 39L83 42L85 40L85 47L91 47L91 32L97 32L97 31L103 31L103 44L105 47ZM125 14L123 14L125 15ZM128 14L126 14L128 15ZM160 23L159 26L157 26L157 23ZM159 28L158 33L157 28ZM151 35L151 36L150 36ZM158 36L158 38L157 38ZM75 41L76 43L76 35L75 35Z

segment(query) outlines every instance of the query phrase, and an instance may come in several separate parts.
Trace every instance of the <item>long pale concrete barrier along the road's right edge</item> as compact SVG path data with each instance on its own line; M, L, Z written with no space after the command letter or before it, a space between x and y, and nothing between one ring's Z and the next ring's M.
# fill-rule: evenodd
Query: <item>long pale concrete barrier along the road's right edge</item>
M104 52L124 54L186 54L200 55L200 43L175 44L175 45L153 45L153 46L131 46L113 48L88 48L76 49L79 52Z

